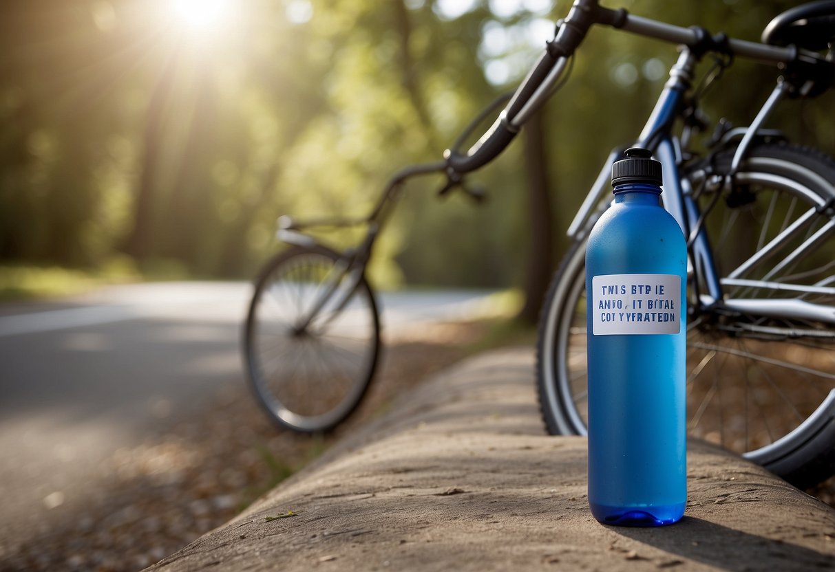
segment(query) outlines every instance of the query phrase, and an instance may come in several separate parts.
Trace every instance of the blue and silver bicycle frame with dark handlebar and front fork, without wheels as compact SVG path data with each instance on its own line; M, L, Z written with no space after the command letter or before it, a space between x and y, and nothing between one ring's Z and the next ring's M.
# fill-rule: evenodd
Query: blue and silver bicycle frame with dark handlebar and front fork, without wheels
M327 221L311 221L310 223L296 223L287 219L287 223L280 229L279 238L287 243L315 244L315 239L301 233L303 228L310 226L347 226L350 224L366 223L368 225L365 239L358 248L348 250L342 254L345 270L337 276L337 283L342 280L345 273L351 272L353 268L365 265L371 255L372 246L377 237L377 231L388 212L388 206L407 178L424 173L448 174L449 180L456 182L460 180L463 173L479 168L491 161L498 153L507 146L509 141L518 133L526 120L535 113L544 102L553 94L555 86L563 76L570 57L579 47L588 29L594 24L605 24L616 29L625 30L648 38L656 38L665 42L677 43L683 46L681 56L676 65L671 69L670 81L667 82L655 109L650 115L645 128L640 133L638 144L641 147L649 148L660 160L664 168L665 193L662 195L665 208L672 214L681 226L681 230L688 239L690 250L691 269L696 273L694 281L696 288L703 288L705 292L696 292L696 299L700 302L701 308L711 307L715 304L722 304L726 309L740 312L742 314L759 314L762 316L794 316L804 319L815 319L835 324L835 314L832 310L817 304L808 303L799 299L776 300L734 300L726 299L723 295L722 286L757 286L770 289L791 289L792 285L782 283L767 283L764 280L757 281L757 284L747 284L739 275L744 270L745 264L753 265L757 260L762 259L767 253L776 250L782 241L790 238L789 230L775 238L772 243L763 248L763 253L757 253L743 266L731 273L729 278L719 278L716 265L711 253L706 233L701 228L701 213L696 199L693 197L692 189L681 188L680 177L681 142L672 133L673 125L679 116L681 106L687 91L691 88L694 68L704 53L717 51L722 53L734 53L736 56L759 60L765 63L802 63L803 65L820 64L822 60L815 53L806 53L794 47L781 48L761 43L751 43L735 38L726 38L722 35L711 37L705 30L700 28L680 28L667 23L657 22L648 18L640 18L626 13L625 10L609 10L601 8L598 0L576 0L569 13L568 18L560 23L554 41L549 43L546 53L539 62L532 68L524 82L514 93L507 108L504 109L493 127L479 139L470 151L463 155L457 151L445 153L446 161L441 163L429 163L403 169L397 173L388 184L382 194L377 206L367 219L358 221L343 221L339 219ZM808 83L808 82L807 82ZM760 132L762 124L772 113L773 108L789 91L790 88L802 93L804 89L811 88L809 85L792 85L778 82L771 97L763 105L757 117L746 129L741 143L736 148L732 161L731 172L746 156L747 149L751 146L757 133ZM601 169L600 175L585 198L579 213L569 227L569 236L581 238L589 228L588 222L592 217L595 208L606 208L609 201L605 199L608 189L610 164L617 157L617 153L610 155L609 160ZM733 175L731 175L731 178ZM454 178L454 179L453 179ZM812 248L815 243L824 238L827 233L833 230L832 224L824 227L812 238L809 238L801 248L797 249L795 256L802 256L805 251ZM782 263L788 264L792 260L787 258ZM342 265L342 264L341 264ZM362 272L359 275L362 275ZM750 282L750 281L748 281ZM814 287L819 293L835 294L835 288L828 283L819 284ZM327 293L330 296L331 293ZM324 304L324 302L322 302ZM321 309L321 304L316 304L316 311Z

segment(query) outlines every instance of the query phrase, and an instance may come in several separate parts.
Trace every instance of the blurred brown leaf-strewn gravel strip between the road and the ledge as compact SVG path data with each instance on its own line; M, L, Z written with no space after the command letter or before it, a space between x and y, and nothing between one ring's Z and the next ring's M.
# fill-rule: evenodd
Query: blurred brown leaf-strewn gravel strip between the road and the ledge
M182 419L99 470L109 485L72 521L44 523L26 544L0 552L0 570L138 570L225 523L334 440L385 412L393 395L463 359L484 326L448 324L387 340L365 402L334 434L276 429L242 382L204 413ZM835 479L812 491L835 506Z

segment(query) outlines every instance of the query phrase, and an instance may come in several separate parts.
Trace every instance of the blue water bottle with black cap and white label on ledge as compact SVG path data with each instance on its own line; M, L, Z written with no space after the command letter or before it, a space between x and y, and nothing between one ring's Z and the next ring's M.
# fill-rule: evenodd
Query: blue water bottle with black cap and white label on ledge
M661 163L625 154L585 258L589 504L604 524L662 526L687 498L687 248L660 206Z

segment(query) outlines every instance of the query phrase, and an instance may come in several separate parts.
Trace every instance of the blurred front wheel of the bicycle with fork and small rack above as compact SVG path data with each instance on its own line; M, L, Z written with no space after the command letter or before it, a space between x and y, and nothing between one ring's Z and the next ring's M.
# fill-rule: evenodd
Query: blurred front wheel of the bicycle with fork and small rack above
M469 123L458 148L501 96ZM374 243L411 178L446 173L438 196L454 190L476 203L472 187L439 161L403 168L388 181L364 218L278 220L277 238L291 248L278 253L256 278L244 329L247 379L266 414L281 428L325 432L353 413L366 394L380 354L380 315L366 278ZM362 240L341 252L320 243L313 228L365 227Z

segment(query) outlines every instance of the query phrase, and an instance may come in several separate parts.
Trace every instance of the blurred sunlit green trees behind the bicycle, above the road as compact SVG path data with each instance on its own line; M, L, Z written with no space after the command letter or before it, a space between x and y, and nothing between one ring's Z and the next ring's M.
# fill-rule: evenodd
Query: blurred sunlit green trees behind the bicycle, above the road
M362 215L398 168L440 158L480 108L519 82L549 22L569 8L567 0L242 1L198 33L172 15L175 4L4 4L0 262L96 267L128 252L140 267L167 260L188 273L251 276L276 248L280 214ZM794 3L621 4L757 40ZM670 46L609 29L585 40L545 110L558 235L610 148L640 131L675 58ZM776 73L737 62L726 76L706 111L746 124ZM831 96L791 102L777 119L832 153L831 109ZM516 143L473 176L490 195L480 208L462 196L435 200L437 178L410 184L372 279L521 283L521 165ZM346 245L357 233L329 239Z

